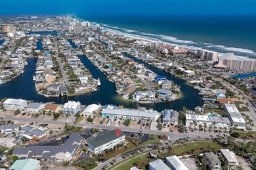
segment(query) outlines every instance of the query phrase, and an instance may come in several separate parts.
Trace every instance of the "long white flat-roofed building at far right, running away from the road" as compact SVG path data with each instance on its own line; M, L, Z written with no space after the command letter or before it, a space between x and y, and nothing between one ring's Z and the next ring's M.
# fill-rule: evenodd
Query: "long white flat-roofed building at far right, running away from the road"
M242 117L236 105L224 104L224 111L226 111L232 127L237 125L237 129L245 129L246 121L244 120L244 117Z

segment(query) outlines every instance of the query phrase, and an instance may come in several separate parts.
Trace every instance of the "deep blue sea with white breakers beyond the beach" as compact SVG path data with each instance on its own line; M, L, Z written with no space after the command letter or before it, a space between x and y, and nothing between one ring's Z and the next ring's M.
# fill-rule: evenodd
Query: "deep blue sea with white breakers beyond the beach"
M125 12L124 12L125 13ZM92 24L152 41L164 41L256 59L256 16L84 16Z

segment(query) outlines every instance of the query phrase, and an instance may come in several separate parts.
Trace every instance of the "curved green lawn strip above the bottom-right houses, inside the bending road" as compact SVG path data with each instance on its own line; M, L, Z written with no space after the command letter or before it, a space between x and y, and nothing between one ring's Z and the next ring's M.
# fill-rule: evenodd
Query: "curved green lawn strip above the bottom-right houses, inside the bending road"
M195 144L195 145L194 145ZM214 148L221 148L221 145L213 142L194 142L194 143L187 143L183 144L183 146L175 146L174 147L174 152L176 154L181 154L182 152L186 152L187 150L192 150L192 149L197 149L197 148L202 148L210 145L211 147Z

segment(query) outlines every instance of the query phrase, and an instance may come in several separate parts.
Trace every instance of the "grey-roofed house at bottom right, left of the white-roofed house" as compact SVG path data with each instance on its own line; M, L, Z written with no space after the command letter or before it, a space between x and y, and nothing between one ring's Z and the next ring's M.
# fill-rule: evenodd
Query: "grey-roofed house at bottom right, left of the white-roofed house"
M222 170L220 167L221 162L218 159L218 156L213 152L204 153L203 158L207 161L207 166L210 168L210 170Z

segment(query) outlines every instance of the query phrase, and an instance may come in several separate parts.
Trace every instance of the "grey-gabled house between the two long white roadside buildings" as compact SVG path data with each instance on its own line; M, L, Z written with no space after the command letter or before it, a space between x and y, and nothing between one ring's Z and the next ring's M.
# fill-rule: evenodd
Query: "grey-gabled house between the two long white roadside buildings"
M167 125L178 125L179 113L176 110L164 109L163 122Z

